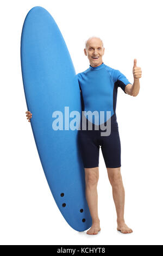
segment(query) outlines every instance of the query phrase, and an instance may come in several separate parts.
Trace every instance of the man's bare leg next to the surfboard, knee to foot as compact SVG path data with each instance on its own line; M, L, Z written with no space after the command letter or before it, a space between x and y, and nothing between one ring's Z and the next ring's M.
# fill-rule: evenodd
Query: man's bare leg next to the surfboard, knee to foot
M99 226L98 218L98 195L97 195L97 183L99 178L98 167L95 168L84 168L85 169L85 194L87 204L90 209L92 217L92 227L87 231L86 234L97 235L98 231L101 230Z

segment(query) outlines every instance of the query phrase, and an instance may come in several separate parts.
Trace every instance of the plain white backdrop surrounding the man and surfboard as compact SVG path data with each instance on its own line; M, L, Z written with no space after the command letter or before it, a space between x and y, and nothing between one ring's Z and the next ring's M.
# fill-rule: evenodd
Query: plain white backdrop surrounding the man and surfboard
M162 1L3 1L1 3L0 243L4 245L159 245L162 243ZM84 42L103 39L103 62L133 83L134 58L141 66L136 97L118 89L125 220L134 232L116 230L116 211L102 153L98 209L101 232L73 230L49 190L26 119L20 39L23 21L36 5L57 22L76 72L89 67ZM41 114L41 113L40 113Z

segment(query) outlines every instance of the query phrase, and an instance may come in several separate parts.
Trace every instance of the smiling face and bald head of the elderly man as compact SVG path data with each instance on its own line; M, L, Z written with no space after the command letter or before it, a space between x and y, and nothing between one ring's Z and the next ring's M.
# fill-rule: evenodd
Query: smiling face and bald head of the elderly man
M104 55L102 41L99 38L92 38L87 41L85 55L88 57L91 66L99 66L103 63L102 57Z

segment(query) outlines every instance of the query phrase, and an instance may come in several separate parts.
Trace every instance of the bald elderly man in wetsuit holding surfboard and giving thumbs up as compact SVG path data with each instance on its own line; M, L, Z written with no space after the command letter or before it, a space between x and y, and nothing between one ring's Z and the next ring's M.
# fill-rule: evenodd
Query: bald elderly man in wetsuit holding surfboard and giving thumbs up
M82 110L98 112L109 111L110 118L104 116L104 126L107 127L110 121L110 134L102 136L101 124L97 125L96 120L86 118L86 129L79 130L79 146L85 169L86 199L92 217L92 227L87 234L96 235L100 228L98 217L98 195L97 182L99 177L98 160L99 148L102 149L108 178L112 186L112 195L117 212L117 230L124 234L131 233L131 230L124 221L124 187L121 176L121 143L116 121L116 100L117 89L121 87L124 93L131 96L139 94L142 71L136 66L134 59L133 85L119 70L110 68L103 63L104 55L103 42L100 38L89 38L85 43L84 53L89 59L90 66L86 71L77 75ZM32 118L30 111L26 112L28 121ZM83 118L82 118L83 120ZM92 130L88 128L92 124ZM99 123L98 123L99 124ZM83 127L83 126L82 126ZM98 130L97 130L98 127Z

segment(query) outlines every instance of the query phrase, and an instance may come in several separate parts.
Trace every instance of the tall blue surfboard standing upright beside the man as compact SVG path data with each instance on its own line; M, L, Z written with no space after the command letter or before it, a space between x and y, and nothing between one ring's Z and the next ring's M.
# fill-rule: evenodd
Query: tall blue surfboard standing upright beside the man
M24 20L21 69L27 108L33 114L30 124L49 188L66 222L84 231L92 220L78 130L53 127L55 111L64 114L68 107L69 112L82 113L80 89L65 40L42 7L32 8Z

